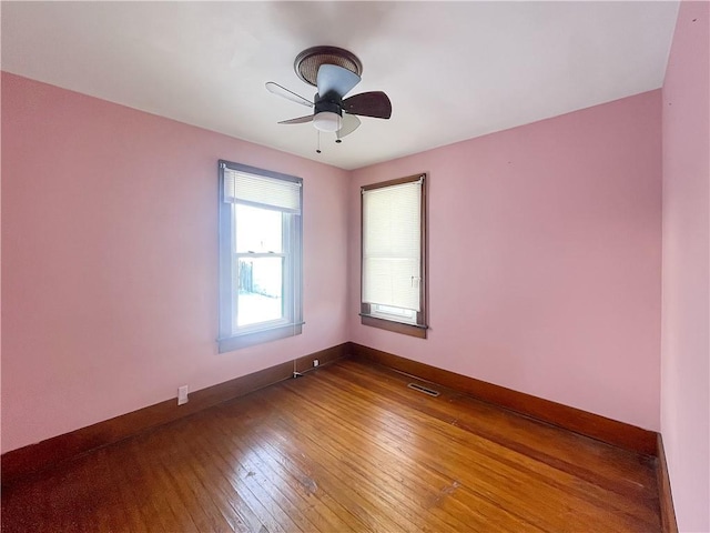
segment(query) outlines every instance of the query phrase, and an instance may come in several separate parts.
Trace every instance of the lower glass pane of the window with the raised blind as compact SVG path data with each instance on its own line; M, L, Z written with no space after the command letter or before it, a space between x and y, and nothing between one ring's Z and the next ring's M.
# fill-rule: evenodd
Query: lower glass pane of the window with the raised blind
M283 318L284 258L239 258L236 326Z

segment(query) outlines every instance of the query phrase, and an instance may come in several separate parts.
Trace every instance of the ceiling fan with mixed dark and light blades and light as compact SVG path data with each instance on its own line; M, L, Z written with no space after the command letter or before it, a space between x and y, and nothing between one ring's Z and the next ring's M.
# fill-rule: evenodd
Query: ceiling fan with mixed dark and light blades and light
M266 89L293 102L313 108L313 113L284 120L280 124L313 122L318 131L335 132L341 142L361 124L357 115L388 119L392 103L382 91L363 92L345 98L359 83L363 66L355 54L336 47L313 47L301 52L294 61L298 78L317 87L313 102L300 94L270 81ZM320 152L320 150L318 150Z

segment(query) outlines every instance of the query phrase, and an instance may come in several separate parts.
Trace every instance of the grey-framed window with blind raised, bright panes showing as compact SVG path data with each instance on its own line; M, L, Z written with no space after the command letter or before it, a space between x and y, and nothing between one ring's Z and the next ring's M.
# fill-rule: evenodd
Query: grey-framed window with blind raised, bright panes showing
M220 352L297 335L302 180L220 161Z

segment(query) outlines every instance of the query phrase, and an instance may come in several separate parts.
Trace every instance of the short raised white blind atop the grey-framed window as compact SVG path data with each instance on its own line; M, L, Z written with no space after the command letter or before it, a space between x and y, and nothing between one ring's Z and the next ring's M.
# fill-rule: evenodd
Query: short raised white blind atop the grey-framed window
M301 182L224 169L224 201L301 214Z

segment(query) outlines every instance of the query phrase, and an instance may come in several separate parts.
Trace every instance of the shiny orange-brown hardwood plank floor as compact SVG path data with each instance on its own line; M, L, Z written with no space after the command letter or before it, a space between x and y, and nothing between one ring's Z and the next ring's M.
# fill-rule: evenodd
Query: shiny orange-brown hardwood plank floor
M272 385L13 484L2 531L660 531L655 459L409 382Z

